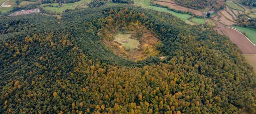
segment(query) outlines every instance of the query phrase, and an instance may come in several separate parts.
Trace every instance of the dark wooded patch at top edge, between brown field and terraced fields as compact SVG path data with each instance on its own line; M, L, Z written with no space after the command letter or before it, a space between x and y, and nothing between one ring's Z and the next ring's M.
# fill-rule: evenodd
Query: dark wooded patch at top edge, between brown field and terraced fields
M224 0L176 0L180 4L204 9L210 7L213 10L221 10L224 8Z

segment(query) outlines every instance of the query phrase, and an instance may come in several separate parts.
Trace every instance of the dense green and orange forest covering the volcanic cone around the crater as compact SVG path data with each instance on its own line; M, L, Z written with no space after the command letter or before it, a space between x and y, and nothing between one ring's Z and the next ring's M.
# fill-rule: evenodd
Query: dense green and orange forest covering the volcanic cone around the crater
M0 113L256 113L256 76L236 45L171 14L119 5L0 25ZM131 25L158 36L158 55L134 62L105 45L104 28Z

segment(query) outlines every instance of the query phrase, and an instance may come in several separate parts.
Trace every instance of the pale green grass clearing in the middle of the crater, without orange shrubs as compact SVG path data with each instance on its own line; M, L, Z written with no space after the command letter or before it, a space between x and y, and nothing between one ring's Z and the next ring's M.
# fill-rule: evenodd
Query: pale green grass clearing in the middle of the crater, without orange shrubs
M114 41L122 44L122 47L124 47L126 50L138 49L140 42L136 39L129 38L131 35L132 33L129 32L120 32L114 35Z

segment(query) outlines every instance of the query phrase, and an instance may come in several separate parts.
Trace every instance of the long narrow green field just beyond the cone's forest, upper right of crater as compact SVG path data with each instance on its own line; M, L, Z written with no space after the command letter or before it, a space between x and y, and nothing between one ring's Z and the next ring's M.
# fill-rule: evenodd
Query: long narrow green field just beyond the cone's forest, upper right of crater
M157 6L151 6L151 7L148 7L148 8L153 9L153 10L157 10L157 11L160 11L160 12L170 13L174 16L177 16L181 20L187 20L189 17L191 17L191 15L189 15L189 14L181 14L181 13L178 13L178 12L168 10L167 8L162 8L162 7L157 7Z

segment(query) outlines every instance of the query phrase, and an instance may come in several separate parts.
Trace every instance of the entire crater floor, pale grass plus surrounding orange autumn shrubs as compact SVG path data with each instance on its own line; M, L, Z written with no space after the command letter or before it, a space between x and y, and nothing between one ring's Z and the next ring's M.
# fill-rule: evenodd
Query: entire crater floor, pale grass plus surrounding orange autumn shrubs
M156 44L158 39L150 33L138 31L117 32L112 41L106 44L117 55L126 57L132 61L144 60L149 56L158 55Z

